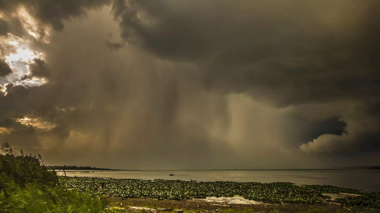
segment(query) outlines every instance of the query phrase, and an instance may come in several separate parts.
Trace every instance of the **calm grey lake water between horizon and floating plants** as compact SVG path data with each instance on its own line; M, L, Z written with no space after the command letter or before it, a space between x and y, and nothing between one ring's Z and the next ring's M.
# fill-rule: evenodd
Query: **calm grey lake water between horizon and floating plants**
M87 170L88 171L88 170ZM63 172L58 172L63 175ZM169 174L174 174L169 176ZM235 182L291 182L380 191L380 169L250 171L66 171L67 176Z

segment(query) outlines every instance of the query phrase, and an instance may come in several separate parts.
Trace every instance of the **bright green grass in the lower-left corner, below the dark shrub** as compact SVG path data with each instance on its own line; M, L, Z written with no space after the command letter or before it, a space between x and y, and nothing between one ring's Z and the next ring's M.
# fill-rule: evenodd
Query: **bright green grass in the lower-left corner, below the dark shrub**
M106 212L105 207L104 200L99 197L36 183L24 187L7 183L6 191L0 193L0 212L101 213Z

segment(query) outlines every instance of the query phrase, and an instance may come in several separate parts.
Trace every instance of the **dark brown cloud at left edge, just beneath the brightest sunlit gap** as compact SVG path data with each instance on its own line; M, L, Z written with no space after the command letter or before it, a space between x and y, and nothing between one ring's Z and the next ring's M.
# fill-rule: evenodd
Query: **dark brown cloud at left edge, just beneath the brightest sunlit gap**
M43 85L26 88L22 85L6 86L6 96L0 96L0 126L11 130L6 135L6 141L13 143L21 149L30 150L38 146L38 136L55 135L58 139L68 137L67 119L68 113L57 111L57 108L75 106L76 102L70 99L62 99L62 86ZM63 93L63 94L62 94ZM22 124L17 119L28 117L30 119L41 119L54 125L52 128L34 127L30 124ZM29 139L34 138L33 140ZM29 141L28 143L25 142Z

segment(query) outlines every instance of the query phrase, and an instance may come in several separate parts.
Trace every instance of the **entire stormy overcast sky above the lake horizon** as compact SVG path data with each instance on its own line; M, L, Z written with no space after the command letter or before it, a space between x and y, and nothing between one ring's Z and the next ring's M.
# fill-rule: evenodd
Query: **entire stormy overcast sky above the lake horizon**
M378 0L0 1L0 143L47 164L380 159Z

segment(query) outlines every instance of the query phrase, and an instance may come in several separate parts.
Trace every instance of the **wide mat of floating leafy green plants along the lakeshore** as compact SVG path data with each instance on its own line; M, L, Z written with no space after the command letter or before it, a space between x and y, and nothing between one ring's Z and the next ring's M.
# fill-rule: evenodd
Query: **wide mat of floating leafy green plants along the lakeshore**
M98 188L103 182L105 187ZM321 204L325 201L323 193L355 193L363 194L362 206L376 207L376 196L367 197L367 193L359 190L340 188L329 185L295 185L294 183L258 183L258 182L190 182L182 180L141 180L141 179L111 179L94 177L60 177L60 183L65 188L75 188L79 191L90 191L93 194L112 194L118 197L150 197L155 199L182 200L194 197L233 197L242 196L245 199L263 202L287 202L298 204ZM356 197L357 198L357 197ZM378 198L378 194L377 194ZM342 204L359 204L350 198L340 200Z

